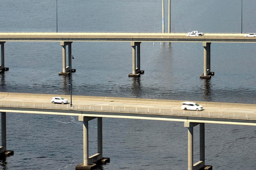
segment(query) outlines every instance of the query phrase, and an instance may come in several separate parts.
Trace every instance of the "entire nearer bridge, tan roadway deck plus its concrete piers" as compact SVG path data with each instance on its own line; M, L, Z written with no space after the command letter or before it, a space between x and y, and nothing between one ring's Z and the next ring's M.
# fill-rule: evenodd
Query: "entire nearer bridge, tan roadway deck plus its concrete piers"
M202 111L181 110L184 101L162 99L134 99L120 97L72 96L73 105L51 104L54 95L28 93L0 93L2 112L2 147L6 153L6 113L31 113L77 116L83 121L83 163L76 169L91 169L94 162L106 163L109 159L102 155L102 118L150 119L184 122L188 128L188 170L210 170L205 165L204 124L235 124L256 126L255 104L234 104L198 102ZM70 99L70 96L63 96ZM98 153L88 155L88 121L98 119ZM200 125L200 160L193 163L193 127Z

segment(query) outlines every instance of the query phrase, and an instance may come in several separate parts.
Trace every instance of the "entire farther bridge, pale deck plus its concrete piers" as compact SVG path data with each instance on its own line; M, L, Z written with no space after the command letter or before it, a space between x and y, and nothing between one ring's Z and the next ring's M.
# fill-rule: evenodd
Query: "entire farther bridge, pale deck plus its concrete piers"
M49 41L61 42L62 46L62 71L59 75L69 75L75 72L72 69L72 42L79 41L108 41L108 42L131 42L132 46L132 73L129 77L139 77L144 71L140 68L140 44L141 42L202 42L204 47L204 70L200 78L209 79L211 72L211 42L240 42L254 43L256 37L245 37L243 33L204 33L203 36L191 37L186 33L0 33L1 65L0 71L7 71L4 66L4 43L13 41ZM68 66L66 66L66 46L68 46ZM136 53L137 52L137 53Z

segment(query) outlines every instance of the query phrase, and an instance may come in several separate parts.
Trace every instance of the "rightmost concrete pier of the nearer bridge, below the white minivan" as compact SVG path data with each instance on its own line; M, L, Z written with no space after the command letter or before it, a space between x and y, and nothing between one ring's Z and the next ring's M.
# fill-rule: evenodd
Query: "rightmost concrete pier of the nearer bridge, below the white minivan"
M193 164L193 127L200 124L200 161ZM205 166L204 158L204 123L184 122L188 128L188 170L212 170L212 166Z

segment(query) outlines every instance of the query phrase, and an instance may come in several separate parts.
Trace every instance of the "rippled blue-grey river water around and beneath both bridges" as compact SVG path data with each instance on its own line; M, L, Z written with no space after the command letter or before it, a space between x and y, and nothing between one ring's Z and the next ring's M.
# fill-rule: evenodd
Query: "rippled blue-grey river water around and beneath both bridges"
M162 32L161 0L0 2L2 32ZM167 5L166 0L166 30ZM253 33L255 6L254 0L171 0L171 31ZM202 43L141 43L145 73L133 78L128 77L130 42L73 42L72 94L255 104L255 47L212 43L215 75L205 80L199 78ZM4 53L9 71L0 75L1 92L70 94L70 78L58 75L60 42L6 42ZM215 170L255 169L255 127L206 124L205 130L207 165ZM92 120L89 155L97 152L96 132L97 121ZM194 134L197 162L198 127ZM7 113L7 149L14 155L0 161L0 169L74 170L83 162L82 135L77 117ZM182 122L104 118L103 156L110 163L100 170L184 170L187 129Z

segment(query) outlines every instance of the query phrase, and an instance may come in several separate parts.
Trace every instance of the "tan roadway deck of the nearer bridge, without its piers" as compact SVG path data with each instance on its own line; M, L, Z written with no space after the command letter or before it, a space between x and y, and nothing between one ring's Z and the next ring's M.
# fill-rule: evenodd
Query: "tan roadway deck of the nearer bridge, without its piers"
M113 117L256 126L256 104L197 102L202 111L182 110L184 101L72 95L70 104L52 104L56 95L0 93L0 112ZM57 95L58 96L58 95ZM70 100L70 95L62 95Z

